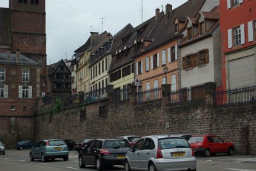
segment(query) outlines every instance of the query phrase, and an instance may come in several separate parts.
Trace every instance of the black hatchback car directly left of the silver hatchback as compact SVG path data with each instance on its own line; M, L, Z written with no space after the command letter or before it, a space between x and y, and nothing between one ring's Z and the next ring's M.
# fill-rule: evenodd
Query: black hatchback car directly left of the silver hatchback
M96 139L79 153L79 167L95 165L98 170L124 165L130 144L125 139Z

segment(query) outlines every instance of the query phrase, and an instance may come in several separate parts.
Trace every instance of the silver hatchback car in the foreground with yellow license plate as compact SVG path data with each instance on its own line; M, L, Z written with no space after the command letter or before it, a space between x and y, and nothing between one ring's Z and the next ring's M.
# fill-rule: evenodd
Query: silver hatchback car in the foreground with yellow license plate
M188 143L179 136L142 137L125 155L125 171L196 170L196 158Z

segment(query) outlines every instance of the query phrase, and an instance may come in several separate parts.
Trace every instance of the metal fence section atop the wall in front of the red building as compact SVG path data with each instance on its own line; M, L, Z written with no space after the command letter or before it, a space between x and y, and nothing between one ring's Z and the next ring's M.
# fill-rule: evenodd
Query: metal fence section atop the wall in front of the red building
M255 101L256 85L247 85L227 90L220 89L213 96L216 98L216 106L252 103Z

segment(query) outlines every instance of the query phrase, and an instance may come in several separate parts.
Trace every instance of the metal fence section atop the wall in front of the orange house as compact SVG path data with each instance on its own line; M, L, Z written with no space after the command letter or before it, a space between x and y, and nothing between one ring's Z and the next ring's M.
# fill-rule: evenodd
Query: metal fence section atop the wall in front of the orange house
M143 103L147 101L155 101L162 99L162 88L151 89L148 91L142 91L140 93L136 93L137 103Z

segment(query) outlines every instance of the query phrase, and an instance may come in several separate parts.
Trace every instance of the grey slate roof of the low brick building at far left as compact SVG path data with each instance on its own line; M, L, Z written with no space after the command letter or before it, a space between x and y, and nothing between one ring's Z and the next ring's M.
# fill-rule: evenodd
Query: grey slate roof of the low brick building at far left
M10 60L7 61L6 53L0 53L0 64L10 64L10 65L26 65L26 66L40 66L39 63L29 59L26 56L20 54L20 60L16 61L16 54L11 54Z

